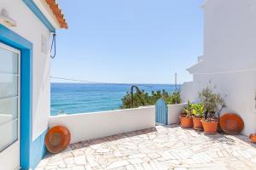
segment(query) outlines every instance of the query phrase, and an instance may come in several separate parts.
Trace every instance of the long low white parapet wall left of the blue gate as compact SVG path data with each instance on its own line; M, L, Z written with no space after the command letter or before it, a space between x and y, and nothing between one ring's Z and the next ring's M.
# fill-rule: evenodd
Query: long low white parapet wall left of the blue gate
M49 127L55 125L67 127L71 143L77 143L154 127L155 107L50 116Z

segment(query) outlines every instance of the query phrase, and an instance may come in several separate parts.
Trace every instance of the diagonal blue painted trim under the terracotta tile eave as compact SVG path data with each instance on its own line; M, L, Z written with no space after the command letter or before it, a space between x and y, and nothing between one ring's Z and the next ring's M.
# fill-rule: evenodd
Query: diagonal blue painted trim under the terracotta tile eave
M32 12L38 17L39 20L43 22L44 26L46 26L49 29L49 31L55 32L55 27L50 24L49 20L47 20L47 18L44 16L44 14L32 0L22 1L26 3L26 6L32 10Z

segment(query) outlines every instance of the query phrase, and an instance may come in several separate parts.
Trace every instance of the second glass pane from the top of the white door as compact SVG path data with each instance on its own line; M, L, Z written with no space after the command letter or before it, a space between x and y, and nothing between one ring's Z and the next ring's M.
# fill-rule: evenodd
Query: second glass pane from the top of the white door
M18 77L0 73L0 99L18 95Z

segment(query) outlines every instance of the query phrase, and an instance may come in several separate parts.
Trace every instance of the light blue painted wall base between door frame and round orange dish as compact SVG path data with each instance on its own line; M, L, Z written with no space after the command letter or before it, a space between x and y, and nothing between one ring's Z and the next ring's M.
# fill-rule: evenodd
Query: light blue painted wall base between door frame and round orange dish
M38 163L42 160L42 158L45 156L47 150L44 144L45 135L47 133L46 129L44 133L42 133L40 136L38 136L37 139L35 139L32 142L32 154L31 154L31 167L32 169L35 169L38 165Z

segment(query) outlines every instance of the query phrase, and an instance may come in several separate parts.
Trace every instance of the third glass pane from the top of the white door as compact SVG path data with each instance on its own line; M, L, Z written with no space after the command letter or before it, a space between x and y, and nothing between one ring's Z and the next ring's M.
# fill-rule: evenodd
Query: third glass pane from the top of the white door
M18 118L18 99L0 99L0 125Z

